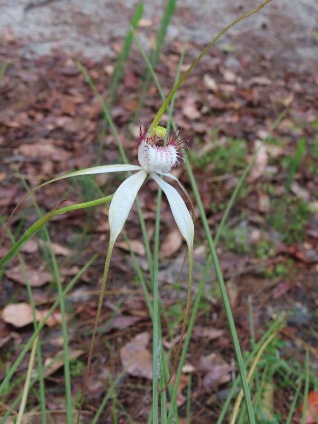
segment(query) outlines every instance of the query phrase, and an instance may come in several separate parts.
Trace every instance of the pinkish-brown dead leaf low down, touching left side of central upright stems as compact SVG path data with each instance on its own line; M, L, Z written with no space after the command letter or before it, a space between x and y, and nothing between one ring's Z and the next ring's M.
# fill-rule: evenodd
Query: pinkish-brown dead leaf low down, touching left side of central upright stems
M127 372L135 377L153 378L152 357L147 344L149 333L140 333L120 349L120 358Z

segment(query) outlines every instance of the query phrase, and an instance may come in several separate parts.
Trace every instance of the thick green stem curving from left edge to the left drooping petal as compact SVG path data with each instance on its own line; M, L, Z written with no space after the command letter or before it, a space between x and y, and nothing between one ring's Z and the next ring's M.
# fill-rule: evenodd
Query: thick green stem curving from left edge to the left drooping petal
M26 232L23 234L23 236L11 247L9 252L0 259L0 266L5 264L9 259L12 259L12 257L15 256L18 252L18 248L26 242L30 237L32 237L43 225L45 225L51 218L53 218L56 215L61 215L66 212L70 212L77 209L83 209L88 208L96 205L100 205L105 202L110 202L112 199L113 194L110 194L109 196L102 197L100 199L92 200L90 202L83 202L78 203L76 205L66 206L61 209L53 210L51 212L48 212L46 215L38 219L34 224L32 224Z

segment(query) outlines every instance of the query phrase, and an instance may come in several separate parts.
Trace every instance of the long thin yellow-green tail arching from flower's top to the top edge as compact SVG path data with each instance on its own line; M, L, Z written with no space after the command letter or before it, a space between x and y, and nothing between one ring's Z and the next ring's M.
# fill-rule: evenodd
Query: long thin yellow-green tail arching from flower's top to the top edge
M213 46L213 44L225 33L227 32L230 28L232 28L232 26L236 25L238 22L240 22L241 20L245 19L247 16L250 16L251 14L257 12L259 9L261 9L262 7L264 7L267 3L269 3L271 0L265 0L263 3L261 3L258 7L256 7L255 9L251 10L250 12L247 12L245 14L243 14L242 16L240 16L238 19L236 19L235 21L233 21L232 23L230 23L228 26L226 26L212 41L211 43L203 50L203 52L198 56L198 58L193 62L193 64L186 70L186 72L182 75L182 77L180 78L180 80L177 82L176 85L174 85L174 87L172 88L172 90L170 91L170 93L168 94L167 98L165 99L165 101L162 103L162 106L160 107L159 111L157 112L157 115L155 116L153 122L151 123L149 130L151 130L152 128L157 127L157 125L160 122L160 119L162 118L162 115L167 107L167 105L169 104L170 100L172 99L173 95L176 93L176 91L179 89L180 85L183 83L183 81L187 78L187 76L190 74L190 72L192 71L193 68L195 68L197 66L197 64L199 63L199 61L203 58L203 56L207 53L207 51Z

